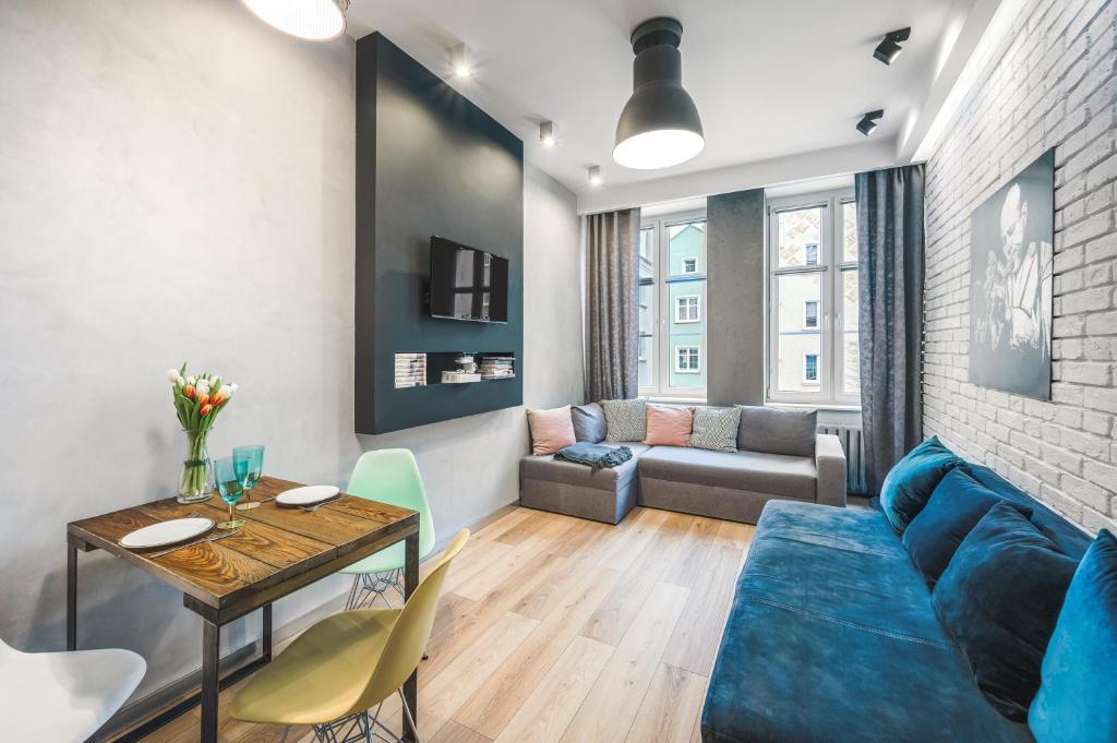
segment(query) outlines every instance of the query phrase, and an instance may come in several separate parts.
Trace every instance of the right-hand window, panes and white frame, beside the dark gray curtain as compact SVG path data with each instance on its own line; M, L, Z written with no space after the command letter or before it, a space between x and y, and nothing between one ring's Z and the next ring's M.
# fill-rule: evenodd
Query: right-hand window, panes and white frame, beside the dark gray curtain
M852 192L770 200L767 242L768 399L858 404Z

